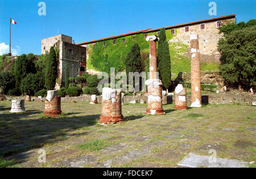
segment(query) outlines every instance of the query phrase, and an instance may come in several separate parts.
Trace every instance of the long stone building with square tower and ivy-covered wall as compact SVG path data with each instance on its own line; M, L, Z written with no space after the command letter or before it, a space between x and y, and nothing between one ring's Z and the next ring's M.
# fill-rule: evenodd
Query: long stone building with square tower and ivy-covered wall
M217 50L218 40L223 37L218 27L228 23L236 23L236 14L221 16L218 18L199 20L196 22L171 25L164 27L170 46L172 73L189 72L188 69L175 69L175 65L185 66L179 61L187 60L190 63L190 35L199 35L200 62L220 63L220 53ZM65 81L65 64L69 65L69 76L73 77L92 71L107 71L115 67L119 71L124 69L124 61L130 46L137 42L141 51L148 53L148 42L145 40L149 35L159 35L160 28L143 29L117 36L105 37L74 44L72 37L57 35L42 40L42 54L49 52L51 46L59 47L59 76L61 84ZM98 59L96 59L98 56ZM108 58L108 59L107 59ZM73 68L72 68L73 65ZM187 64L190 67L190 64ZM92 70L92 71L91 71ZM174 76L174 75L172 75Z

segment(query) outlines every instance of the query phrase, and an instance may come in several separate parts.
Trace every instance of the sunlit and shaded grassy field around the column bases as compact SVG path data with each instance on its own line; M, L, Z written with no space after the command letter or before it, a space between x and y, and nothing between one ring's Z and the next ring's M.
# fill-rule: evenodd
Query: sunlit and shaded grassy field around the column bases
M190 152L242 161L256 159L255 106L206 105L146 116L146 104L125 104L125 122L98 125L101 104L62 102L63 114L43 115L44 103L9 113L0 101L0 167L178 167ZM39 163L38 151L46 151ZM255 167L255 164L248 165Z

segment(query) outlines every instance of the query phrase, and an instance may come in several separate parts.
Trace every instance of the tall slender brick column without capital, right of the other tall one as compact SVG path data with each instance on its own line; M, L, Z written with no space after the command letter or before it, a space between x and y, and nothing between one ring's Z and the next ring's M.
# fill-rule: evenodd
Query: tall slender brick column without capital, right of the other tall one
M197 34L191 40L191 107L201 107L200 53Z

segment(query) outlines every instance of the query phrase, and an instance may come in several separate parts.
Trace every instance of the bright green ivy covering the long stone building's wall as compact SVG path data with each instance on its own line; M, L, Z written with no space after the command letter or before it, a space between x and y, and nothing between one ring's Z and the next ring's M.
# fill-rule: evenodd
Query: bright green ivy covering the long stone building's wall
M176 36L172 35L171 29L166 30L166 39L171 40ZM157 35L156 32L147 33L150 35ZM115 72L125 70L125 58L129 52L131 46L136 42L139 44L141 51L149 53L149 42L145 40L144 33L136 35L130 35L125 37L119 37L117 39L109 39L96 42L96 47L93 48L93 44L90 44L88 48L89 58L86 60L87 69L93 69L97 71L105 71L110 73L110 67L115 67ZM133 37L136 38L133 41ZM123 42L125 39L125 42ZM115 44L113 44L115 40ZM104 46L105 44L105 46ZM187 52L189 45L182 42L169 42L170 55L171 55L171 73L174 80L181 72L191 71L191 61L189 58L184 57L183 54ZM145 66L146 64L144 64ZM217 71L217 64L201 63L201 71Z

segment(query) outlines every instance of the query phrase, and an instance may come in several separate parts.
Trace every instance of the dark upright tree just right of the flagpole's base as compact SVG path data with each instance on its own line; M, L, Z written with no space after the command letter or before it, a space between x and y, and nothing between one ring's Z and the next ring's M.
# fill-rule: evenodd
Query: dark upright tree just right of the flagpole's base
M18 56L15 61L14 73L15 73L15 87L20 90L20 83L23 78L25 78L30 71L30 63L27 59L26 54Z

